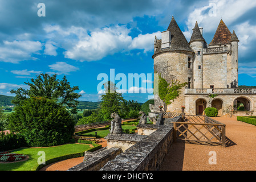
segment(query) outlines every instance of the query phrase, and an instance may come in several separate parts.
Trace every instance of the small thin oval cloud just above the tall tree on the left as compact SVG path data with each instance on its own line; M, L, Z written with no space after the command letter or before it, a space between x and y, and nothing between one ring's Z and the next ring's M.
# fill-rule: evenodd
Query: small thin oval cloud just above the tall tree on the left
M52 70L58 71L59 74L68 75L70 72L78 71L79 68L65 62L56 62L55 64L48 65Z

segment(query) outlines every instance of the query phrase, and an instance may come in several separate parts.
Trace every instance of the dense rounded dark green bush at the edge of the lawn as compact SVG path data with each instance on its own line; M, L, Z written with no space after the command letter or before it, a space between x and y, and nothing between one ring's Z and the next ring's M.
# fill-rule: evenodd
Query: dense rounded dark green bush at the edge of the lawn
M9 129L21 133L30 147L48 147L70 141L75 121L61 104L44 97L31 97L10 114Z

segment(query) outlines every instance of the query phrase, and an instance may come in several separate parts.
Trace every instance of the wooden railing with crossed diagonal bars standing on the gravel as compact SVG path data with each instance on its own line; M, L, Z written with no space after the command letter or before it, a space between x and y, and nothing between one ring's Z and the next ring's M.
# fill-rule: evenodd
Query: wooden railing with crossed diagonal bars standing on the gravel
M226 125L202 115L185 115L184 122L172 122L174 140L208 143L226 147Z

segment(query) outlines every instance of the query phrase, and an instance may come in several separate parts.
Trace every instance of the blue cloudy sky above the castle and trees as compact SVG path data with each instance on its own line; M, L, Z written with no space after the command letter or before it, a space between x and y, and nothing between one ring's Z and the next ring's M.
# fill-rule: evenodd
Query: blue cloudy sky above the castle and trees
M145 102L153 42L172 16L188 42L197 21L208 44L223 19L240 40L239 85L256 85L255 0L0 0L0 94L14 96L11 89L28 89L24 82L36 75L56 73L79 86L79 100L96 102L104 94L100 76L112 74L116 84L126 76L126 100ZM146 77L129 85L135 73Z

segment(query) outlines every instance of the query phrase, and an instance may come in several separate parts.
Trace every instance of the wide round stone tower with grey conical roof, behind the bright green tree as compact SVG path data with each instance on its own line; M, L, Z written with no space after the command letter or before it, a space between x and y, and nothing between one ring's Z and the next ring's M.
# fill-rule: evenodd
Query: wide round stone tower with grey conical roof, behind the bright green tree
M193 88L194 51L173 17L167 30L162 32L162 39L156 38L154 44L155 52L152 58L155 73L159 73L169 83L172 80L188 82L188 88ZM184 91L185 88L181 90L180 97L166 110L181 111L181 106L185 106Z

